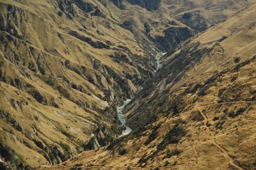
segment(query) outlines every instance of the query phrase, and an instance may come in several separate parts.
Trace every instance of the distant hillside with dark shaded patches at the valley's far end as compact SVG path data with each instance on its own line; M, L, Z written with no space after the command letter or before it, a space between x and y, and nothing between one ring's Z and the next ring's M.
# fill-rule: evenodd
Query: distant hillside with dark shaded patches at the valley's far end
M129 0L129 3L122 0L112 1L125 11L120 15L122 27L131 30L138 42L143 47L148 47L148 51L152 51L154 47L165 52L175 49L180 42L255 3L253 0L155 0L147 3L142 0ZM140 6L145 10L139 8Z

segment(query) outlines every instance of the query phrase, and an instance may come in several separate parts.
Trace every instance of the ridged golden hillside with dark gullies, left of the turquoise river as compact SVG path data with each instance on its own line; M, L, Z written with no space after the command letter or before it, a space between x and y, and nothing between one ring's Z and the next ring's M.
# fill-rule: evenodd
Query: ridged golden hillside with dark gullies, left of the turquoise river
M0 2L4 161L57 164L118 137L116 105L152 77L155 56L98 1Z

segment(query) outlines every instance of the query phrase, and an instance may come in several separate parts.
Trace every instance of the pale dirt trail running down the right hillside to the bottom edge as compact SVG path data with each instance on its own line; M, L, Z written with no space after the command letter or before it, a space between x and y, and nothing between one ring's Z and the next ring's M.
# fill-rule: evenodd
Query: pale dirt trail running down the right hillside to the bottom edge
M223 148L222 146L220 146L220 144L216 143L216 139L215 139L215 135L213 134L213 132L211 131L211 129L209 127L207 127L207 122L209 121L207 116L205 116L205 114L202 112L202 109L201 109L202 106L198 106L196 107L198 109L198 111L200 112L200 114L203 116L204 118L204 126L207 130L207 132L209 132L209 134L211 135L211 143L214 144L214 146L216 146L217 148L219 148L221 150L221 152L224 154L224 156L226 158L229 159L229 164L236 167L237 169L239 170L243 170L243 168L237 166L235 163L234 163L234 160L228 155L228 152L225 150L225 148Z

